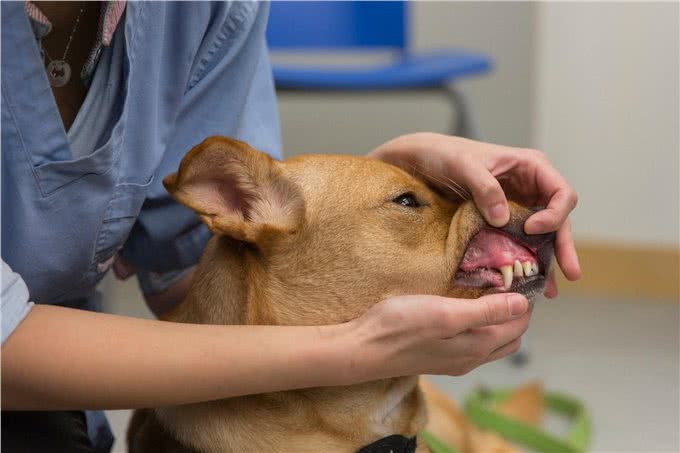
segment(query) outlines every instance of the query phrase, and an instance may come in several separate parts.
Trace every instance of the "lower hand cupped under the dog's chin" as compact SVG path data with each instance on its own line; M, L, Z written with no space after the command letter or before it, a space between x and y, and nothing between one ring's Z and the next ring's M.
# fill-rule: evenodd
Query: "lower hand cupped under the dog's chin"
M347 381L466 374L517 351L530 317L519 294L389 298L342 325L354 346L343 348L350 361Z

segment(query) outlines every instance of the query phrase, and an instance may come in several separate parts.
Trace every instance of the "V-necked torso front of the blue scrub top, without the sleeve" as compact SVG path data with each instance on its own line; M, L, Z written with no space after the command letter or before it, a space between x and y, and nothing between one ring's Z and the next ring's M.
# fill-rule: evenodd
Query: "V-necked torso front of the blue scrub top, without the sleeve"
M129 4L68 135L23 5L1 8L3 259L36 302L86 297L173 138L211 8Z

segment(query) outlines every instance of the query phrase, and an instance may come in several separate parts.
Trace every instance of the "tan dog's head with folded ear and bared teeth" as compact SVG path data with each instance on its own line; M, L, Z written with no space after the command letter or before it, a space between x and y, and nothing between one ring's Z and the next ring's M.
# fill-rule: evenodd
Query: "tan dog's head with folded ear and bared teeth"
M417 175L364 157L278 162L211 137L164 183L217 237L240 244L244 303L255 305L247 323L346 321L403 294L531 298L543 292L552 257L552 234L523 232L530 209L511 203L508 225L492 228L472 202L452 202Z

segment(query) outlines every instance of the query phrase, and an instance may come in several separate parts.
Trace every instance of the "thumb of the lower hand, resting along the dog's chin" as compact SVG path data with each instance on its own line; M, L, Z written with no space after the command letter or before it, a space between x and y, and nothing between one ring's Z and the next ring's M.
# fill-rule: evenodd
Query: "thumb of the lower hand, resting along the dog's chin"
M461 330L503 324L527 312L529 302L521 294L491 294L479 299L457 299Z

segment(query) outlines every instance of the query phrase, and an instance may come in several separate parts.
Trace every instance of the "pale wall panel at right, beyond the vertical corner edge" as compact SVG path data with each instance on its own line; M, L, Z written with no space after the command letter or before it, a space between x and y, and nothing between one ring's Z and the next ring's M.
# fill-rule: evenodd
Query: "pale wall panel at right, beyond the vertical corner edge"
M678 246L678 3L537 6L534 142L576 236Z

